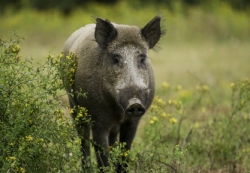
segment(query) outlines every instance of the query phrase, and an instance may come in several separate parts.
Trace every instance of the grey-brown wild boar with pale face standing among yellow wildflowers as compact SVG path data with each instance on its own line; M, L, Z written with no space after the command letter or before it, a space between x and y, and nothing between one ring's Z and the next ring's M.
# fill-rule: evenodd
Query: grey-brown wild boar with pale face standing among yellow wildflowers
M130 150L138 123L155 93L148 51L162 35L159 16L142 29L96 18L96 24L80 28L66 41L64 54L74 52L78 56L74 85L66 88L70 106L86 107L93 121L91 127L87 123L77 125L78 134L83 135L83 164L90 155L90 130L99 167L109 165L108 147L117 141L118 134L119 141L126 142L125 149ZM87 98L77 97L79 92L86 92Z

